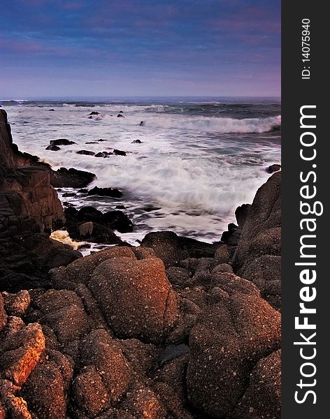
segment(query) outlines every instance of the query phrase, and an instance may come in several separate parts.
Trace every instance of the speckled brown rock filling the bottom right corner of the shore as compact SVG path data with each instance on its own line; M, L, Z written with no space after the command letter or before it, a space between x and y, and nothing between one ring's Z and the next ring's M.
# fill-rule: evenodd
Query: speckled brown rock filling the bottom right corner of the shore
M280 419L280 355L279 350L259 360L251 373L250 384L243 399L229 415L229 419Z

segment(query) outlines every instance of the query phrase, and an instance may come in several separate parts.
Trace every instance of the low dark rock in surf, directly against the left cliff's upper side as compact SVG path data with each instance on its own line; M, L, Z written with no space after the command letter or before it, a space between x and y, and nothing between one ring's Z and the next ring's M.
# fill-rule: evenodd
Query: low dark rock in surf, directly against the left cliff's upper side
M77 170L73 168L59 168L52 170L50 182L55 188L85 188L90 184L96 175L91 172Z

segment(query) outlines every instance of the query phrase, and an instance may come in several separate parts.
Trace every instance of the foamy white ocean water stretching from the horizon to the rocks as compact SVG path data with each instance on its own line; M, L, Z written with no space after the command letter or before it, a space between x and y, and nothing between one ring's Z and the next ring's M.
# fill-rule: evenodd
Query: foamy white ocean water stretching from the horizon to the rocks
M22 152L39 156L55 170L94 172L97 179L90 187L123 192L117 199L85 193L63 197L73 190L62 189L59 198L102 211L124 205L134 232L117 234L131 244L157 230L220 240L235 221L236 207L251 203L270 176L266 168L280 163L279 98L62 98L0 104ZM46 150L57 138L76 144ZM127 155L76 154L82 149L120 149Z

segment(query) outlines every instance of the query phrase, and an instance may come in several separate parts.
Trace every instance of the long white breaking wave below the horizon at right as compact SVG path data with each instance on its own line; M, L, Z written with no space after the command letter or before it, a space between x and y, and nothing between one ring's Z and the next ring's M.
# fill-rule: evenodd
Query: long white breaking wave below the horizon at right
M214 133L266 133L280 129L281 116L268 118L234 119L223 117L148 117L145 126L177 128Z

